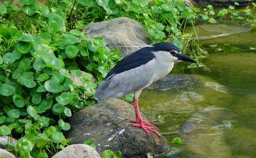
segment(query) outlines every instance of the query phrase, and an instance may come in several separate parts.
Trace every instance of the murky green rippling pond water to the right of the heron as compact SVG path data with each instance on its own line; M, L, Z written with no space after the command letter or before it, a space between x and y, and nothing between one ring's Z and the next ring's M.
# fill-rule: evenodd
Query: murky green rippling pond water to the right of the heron
M199 29L203 37L205 26ZM183 140L167 157L256 157L256 34L230 34L200 41L209 52L207 69L175 75L181 87L156 83L142 91L142 113L169 142Z

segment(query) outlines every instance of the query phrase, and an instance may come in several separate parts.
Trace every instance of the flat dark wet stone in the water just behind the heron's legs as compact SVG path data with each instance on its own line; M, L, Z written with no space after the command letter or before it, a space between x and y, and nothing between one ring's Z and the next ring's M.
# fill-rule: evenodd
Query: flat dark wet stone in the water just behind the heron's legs
M200 80L196 75L167 75L147 89L157 90L190 90L200 86Z

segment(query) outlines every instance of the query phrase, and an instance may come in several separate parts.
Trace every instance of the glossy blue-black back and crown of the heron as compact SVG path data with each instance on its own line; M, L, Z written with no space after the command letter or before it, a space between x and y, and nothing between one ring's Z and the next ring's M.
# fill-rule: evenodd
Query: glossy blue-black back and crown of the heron
M176 50L177 52L180 51L178 47L167 42L156 43L152 46L153 47L143 47L142 49L139 49L129 54L128 56L125 56L123 60L118 62L116 66L114 66L114 68L110 70L108 75L106 75L106 79L111 75L122 73L123 71L134 69L150 62L150 60L153 60L155 58L155 55L153 54L153 52L155 51L159 51L159 50L164 50L167 52L171 50Z

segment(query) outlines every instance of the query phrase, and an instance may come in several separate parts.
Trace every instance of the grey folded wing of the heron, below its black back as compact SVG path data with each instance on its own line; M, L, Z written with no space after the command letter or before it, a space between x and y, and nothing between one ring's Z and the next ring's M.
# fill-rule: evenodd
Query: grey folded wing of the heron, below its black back
M155 61L152 60L145 65L108 77L98 85L96 98L104 100L124 96L148 87L154 80L154 64Z

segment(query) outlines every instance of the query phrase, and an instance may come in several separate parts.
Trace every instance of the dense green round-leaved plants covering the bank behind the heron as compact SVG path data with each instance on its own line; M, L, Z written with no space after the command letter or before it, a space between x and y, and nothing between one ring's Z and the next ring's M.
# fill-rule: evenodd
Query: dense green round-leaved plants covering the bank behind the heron
M19 157L54 155L70 141L63 135L70 129L66 118L95 103L98 81L120 58L102 37L81 33L85 24L127 16L144 26L152 43L169 41L198 59L200 49L182 32L197 14L181 0L1 2L0 134L18 139L9 150Z

